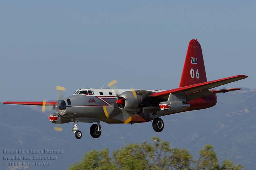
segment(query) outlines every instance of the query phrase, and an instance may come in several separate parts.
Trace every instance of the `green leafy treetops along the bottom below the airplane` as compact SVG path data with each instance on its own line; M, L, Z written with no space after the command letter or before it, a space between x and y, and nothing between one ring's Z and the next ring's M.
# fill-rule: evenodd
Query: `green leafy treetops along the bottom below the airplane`
M108 149L92 150L69 170L241 170L229 160L219 164L212 145L205 145L194 160L188 149L171 148L169 142L152 137L153 143L129 144L109 155Z

